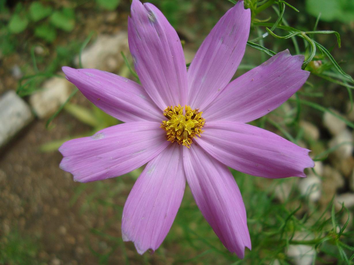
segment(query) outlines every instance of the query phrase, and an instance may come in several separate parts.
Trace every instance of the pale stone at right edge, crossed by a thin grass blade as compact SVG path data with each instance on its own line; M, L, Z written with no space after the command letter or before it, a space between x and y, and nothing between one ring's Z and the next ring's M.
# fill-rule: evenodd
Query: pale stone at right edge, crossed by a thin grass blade
M336 151L333 152L338 158L344 159L348 158L353 153L353 137L348 129L344 129L339 134L337 134L330 142L329 147L339 146Z

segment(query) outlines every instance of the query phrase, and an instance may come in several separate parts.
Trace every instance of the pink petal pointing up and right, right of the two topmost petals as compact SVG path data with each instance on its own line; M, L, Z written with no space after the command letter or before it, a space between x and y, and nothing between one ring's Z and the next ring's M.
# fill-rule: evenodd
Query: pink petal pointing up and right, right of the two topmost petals
M230 82L245 53L251 12L239 1L206 37L188 69L189 101L203 110Z

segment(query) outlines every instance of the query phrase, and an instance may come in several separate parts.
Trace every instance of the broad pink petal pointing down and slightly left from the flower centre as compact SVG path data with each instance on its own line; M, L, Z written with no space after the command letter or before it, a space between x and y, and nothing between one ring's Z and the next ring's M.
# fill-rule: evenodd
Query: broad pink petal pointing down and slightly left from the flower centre
M165 239L185 188L181 147L171 144L151 160L134 184L122 216L124 241L139 254L155 251Z

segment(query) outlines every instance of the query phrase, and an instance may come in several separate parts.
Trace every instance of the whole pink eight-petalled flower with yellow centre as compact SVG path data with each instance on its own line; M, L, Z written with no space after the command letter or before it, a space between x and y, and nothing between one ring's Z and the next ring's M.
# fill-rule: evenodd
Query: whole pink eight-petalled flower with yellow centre
M228 166L266 178L306 177L304 168L314 166L308 149L246 124L303 85L309 75L301 70L304 57L280 52L230 82L250 31L250 10L239 1L206 37L187 72L181 42L164 15L133 0L131 16L129 47L142 86L108 72L63 67L89 100L125 123L65 142L60 166L76 181L89 182L147 163L122 216L123 239L140 254L161 245L187 180L216 235L243 258L251 241Z

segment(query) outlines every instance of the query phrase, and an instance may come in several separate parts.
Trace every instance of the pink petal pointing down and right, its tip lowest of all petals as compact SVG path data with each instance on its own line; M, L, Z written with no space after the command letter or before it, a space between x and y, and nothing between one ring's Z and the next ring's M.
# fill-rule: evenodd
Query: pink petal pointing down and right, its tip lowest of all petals
M251 249L245 205L228 168L198 145L183 150L187 182L203 216L224 246L244 257Z

